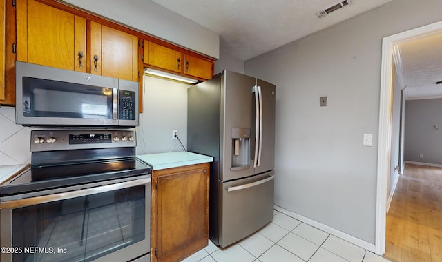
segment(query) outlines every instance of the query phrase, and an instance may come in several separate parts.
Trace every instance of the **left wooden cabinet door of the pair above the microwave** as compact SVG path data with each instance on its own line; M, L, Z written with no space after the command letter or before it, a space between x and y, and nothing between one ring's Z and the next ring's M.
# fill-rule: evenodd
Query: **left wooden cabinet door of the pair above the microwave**
M86 19L34 0L17 1L18 61L86 72L84 55Z

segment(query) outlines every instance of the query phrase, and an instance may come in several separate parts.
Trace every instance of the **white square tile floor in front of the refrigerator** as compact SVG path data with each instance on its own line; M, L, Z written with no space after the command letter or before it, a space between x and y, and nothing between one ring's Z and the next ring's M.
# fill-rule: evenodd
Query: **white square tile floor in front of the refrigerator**
M386 262L381 256L275 210L273 221L227 248L209 245L182 262Z

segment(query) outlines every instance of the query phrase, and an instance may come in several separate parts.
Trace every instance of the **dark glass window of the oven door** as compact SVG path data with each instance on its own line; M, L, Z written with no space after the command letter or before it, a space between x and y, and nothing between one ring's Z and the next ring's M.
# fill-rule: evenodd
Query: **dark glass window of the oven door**
M91 261L144 241L145 199L140 185L12 210L12 246L25 251L13 261Z

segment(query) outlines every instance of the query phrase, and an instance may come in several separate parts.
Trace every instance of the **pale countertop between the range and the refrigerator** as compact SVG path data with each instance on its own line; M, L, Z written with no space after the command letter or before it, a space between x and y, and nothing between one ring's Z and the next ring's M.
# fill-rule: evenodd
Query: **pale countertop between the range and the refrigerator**
M191 152L170 152L159 154L139 154L137 158L147 163L153 170L177 168L184 165L213 162L213 157Z

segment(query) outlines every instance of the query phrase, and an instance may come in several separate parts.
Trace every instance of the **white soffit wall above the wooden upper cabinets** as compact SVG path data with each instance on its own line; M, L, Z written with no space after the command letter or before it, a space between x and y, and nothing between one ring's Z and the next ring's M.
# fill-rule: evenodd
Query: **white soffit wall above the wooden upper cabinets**
M218 59L219 34L167 10L151 0L65 0L140 32Z

